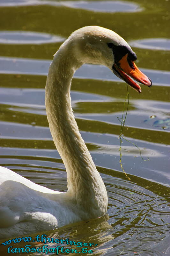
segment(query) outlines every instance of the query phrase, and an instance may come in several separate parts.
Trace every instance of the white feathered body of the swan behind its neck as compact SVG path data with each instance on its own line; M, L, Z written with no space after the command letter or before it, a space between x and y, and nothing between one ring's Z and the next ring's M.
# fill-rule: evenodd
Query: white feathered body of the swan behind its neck
M0 167L0 184L0 238L80 220L70 211L62 192L39 186L4 167Z

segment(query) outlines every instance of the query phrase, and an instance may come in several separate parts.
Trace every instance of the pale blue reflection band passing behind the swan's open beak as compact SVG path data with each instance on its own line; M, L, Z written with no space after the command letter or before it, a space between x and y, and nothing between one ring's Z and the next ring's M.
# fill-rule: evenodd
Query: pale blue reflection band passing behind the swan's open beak
M0 57L1 74L30 74L45 75L48 74L48 68L51 60L32 60L20 58ZM154 69L140 68L151 80L153 85L170 86L170 72ZM74 74L75 78L107 80L124 83L123 80L113 74L109 68L100 65L85 64Z

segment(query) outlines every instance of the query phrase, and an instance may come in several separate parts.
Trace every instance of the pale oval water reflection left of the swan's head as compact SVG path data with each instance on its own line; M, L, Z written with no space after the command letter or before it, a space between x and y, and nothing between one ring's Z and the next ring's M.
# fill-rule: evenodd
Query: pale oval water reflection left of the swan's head
M62 36L28 31L0 31L0 44L48 44L63 42Z

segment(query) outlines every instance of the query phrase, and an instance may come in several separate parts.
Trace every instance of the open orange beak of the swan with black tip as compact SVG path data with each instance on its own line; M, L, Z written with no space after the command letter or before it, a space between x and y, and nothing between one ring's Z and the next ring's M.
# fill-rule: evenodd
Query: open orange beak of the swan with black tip
M113 65L112 67L113 72L116 76L120 77L124 80L127 84L129 84L132 88L134 88L137 92L141 93L141 87L135 81L141 84L145 84L149 87L152 86L152 81L147 76L145 76L136 66L134 61L128 59L128 53L122 57L119 62ZM132 78L131 78L132 77Z

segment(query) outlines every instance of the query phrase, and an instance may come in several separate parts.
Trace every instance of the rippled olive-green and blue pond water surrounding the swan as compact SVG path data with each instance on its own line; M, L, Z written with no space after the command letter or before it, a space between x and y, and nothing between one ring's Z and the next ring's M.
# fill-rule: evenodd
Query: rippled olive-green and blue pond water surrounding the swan
M0 165L33 182L67 189L65 167L48 128L44 88L52 55L72 31L86 25L114 30L133 46L137 66L153 82L152 88L142 85L141 94L128 89L124 137L149 160L143 161L138 148L123 141L122 164L129 181L119 163L117 118L122 116L126 84L102 66L87 64L76 72L72 107L106 185L108 211L100 219L43 233L98 244L88 247L92 255L170 255L169 1L1 0L0 6ZM43 245L11 245L26 244ZM74 245L64 248L81 251ZM0 251L10 255L7 246L0 245Z

